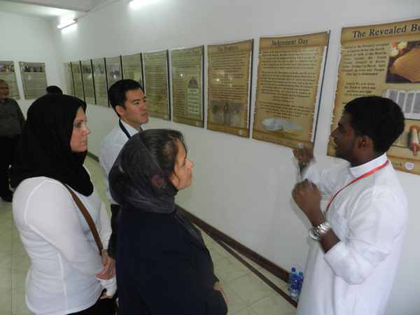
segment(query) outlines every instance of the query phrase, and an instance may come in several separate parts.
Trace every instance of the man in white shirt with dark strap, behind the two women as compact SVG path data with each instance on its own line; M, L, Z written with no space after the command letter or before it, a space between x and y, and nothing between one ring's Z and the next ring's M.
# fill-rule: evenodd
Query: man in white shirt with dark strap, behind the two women
M111 225L113 234L109 240L109 255L115 258L115 246L118 230L118 214L120 207L112 199L109 192L108 175L125 143L141 126L148 123L148 107L146 96L141 85L135 80L119 80L108 91L109 102L120 120L118 125L102 140L99 148L99 165L102 167L105 182L105 193L111 202Z

